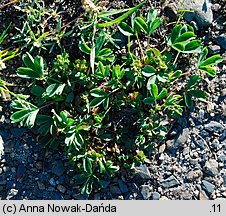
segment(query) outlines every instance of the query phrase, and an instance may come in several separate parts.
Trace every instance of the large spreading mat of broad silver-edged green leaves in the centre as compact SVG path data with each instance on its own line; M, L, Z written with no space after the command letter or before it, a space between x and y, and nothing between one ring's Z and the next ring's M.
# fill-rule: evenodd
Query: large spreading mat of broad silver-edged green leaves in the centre
M120 168L150 162L172 119L192 108L193 98L207 98L199 88L199 72L187 74L180 53L199 53L197 70L211 76L216 74L212 66L221 62L219 55L206 58L207 48L186 24L173 28L163 51L144 47L140 38L150 42L162 22L153 9L143 18L143 4L90 11L89 23L80 27L83 59L72 60L63 51L47 65L41 56L26 53L25 67L17 69L18 76L33 83L32 100L16 98L11 120L37 125L43 146L65 149L83 194L101 187L101 179ZM128 37L126 58L115 33ZM131 49L131 39L139 43L137 48ZM187 86L177 86L184 76Z

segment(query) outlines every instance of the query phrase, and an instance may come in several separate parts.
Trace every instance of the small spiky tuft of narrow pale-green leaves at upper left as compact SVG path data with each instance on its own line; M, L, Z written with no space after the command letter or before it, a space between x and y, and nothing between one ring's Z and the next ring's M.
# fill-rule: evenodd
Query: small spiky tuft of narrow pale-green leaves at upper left
M48 48L51 53L56 45L61 47L62 38L72 33L63 28L60 12L47 9L44 1L20 1L20 5L15 7L23 13L20 17L23 26L16 27L18 33L12 39L21 44L22 49L29 49L30 52L37 49L40 52Z

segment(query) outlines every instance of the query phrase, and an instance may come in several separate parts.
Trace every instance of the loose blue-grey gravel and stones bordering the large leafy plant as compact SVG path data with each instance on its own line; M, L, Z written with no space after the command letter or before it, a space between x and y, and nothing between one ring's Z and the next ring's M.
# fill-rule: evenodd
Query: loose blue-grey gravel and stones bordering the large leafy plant
M168 2L165 13L176 19L177 1ZM187 19L204 29L199 34L205 36L211 52L223 54L223 25L220 19L216 19L219 28L212 25L221 4L214 1L211 7L207 1L203 12L204 0L190 2L197 6L192 19ZM226 67L219 66L215 78L203 77L209 102L197 102L192 112L184 114L150 164L135 167L135 174L127 171L113 180L102 180L103 188L90 199L226 199ZM88 199L80 194L66 166L66 155L42 149L33 138L35 133L10 124L4 109L0 112L0 199Z

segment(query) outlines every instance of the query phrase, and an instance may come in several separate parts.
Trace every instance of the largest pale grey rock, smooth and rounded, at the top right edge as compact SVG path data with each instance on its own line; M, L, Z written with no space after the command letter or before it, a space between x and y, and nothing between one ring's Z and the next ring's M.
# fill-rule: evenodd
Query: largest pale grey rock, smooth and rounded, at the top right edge
M187 12L184 17L189 22L195 20L201 28L208 27L213 22L211 5L209 0L185 0L183 8L194 12Z

